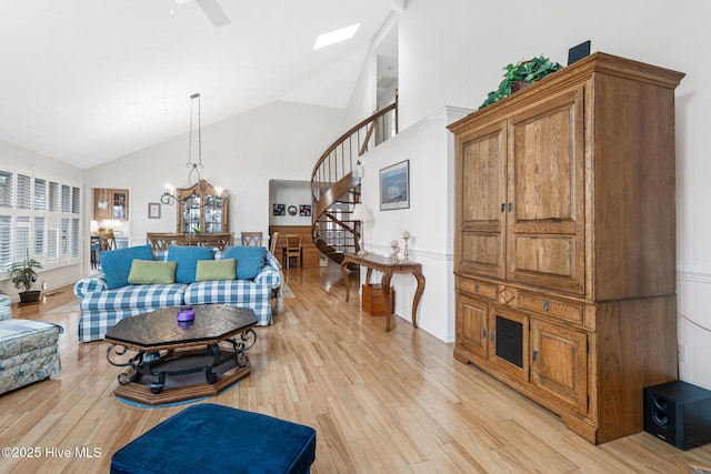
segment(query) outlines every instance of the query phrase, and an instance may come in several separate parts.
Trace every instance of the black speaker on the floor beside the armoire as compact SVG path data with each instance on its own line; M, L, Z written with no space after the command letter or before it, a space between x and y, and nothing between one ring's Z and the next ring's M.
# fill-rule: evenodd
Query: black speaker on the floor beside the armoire
M711 442L711 391L682 381L644 387L644 431L680 450Z

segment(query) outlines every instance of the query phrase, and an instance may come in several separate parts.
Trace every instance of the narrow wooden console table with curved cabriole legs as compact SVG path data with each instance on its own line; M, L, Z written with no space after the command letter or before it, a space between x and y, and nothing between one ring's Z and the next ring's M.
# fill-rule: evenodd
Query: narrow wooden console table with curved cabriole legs
M365 283L370 282L370 275L373 270L378 270L382 272L382 293L385 299L385 309L389 310L385 320L385 331L390 331L390 320L392 319L392 301L391 301L391 292L390 292L390 280L392 279L393 273L412 273L412 275L418 281L418 289L414 292L414 297L412 299L412 326L418 326L418 305L420 304L420 297L424 292L424 275L422 274L422 264L414 262L398 262L392 263L389 258L380 256L380 255L358 255L356 253L344 253L343 262L341 262L341 273L343 274L343 283L346 284L346 301L350 297L350 282L348 279L348 264L353 262L356 264L365 266L368 269L368 273L365 274Z

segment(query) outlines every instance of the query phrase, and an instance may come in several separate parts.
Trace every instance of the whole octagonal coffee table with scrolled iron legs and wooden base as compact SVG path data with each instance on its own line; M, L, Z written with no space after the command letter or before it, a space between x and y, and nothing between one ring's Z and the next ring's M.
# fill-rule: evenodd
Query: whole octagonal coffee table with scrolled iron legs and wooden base
M257 341L252 310L206 304L192 306L193 321L179 322L180 310L127 317L107 332L107 359L124 367L116 396L160 405L217 395L249 375L247 351Z

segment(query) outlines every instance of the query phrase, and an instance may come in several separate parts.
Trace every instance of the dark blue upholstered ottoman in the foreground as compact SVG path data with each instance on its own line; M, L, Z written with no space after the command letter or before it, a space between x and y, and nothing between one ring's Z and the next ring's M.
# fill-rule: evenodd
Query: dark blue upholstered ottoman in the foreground
M111 457L111 473L308 473L316 430L214 404L192 405Z

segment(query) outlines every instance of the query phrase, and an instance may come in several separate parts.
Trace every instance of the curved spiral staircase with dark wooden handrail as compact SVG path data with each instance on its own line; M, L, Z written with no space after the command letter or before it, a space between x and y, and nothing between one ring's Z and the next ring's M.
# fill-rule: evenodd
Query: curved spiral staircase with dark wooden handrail
M311 173L311 235L316 246L341 263L343 253L360 250L360 221L351 219L360 202L360 158L398 133L398 94L343 135L321 155Z

